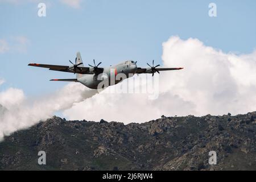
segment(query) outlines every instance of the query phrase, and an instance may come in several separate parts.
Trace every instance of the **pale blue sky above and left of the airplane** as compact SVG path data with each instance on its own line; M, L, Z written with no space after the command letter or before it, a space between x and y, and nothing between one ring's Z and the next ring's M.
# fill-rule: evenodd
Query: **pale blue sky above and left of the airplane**
M31 62L68 64L80 51L85 64L102 66L126 59L139 66L154 59L161 63L162 43L172 35L197 38L207 46L238 54L256 47L256 1L81 1L79 8L61 1L47 3L39 18L38 2L0 0L0 40L9 50L0 52L0 91L9 87L27 96L51 93L66 83L51 78L73 78L72 73L28 67ZM50 2L50 3L49 3ZM208 5L217 5L217 17ZM24 46L17 38L26 38ZM193 61L193 60L192 60Z

